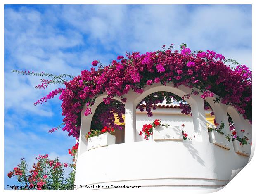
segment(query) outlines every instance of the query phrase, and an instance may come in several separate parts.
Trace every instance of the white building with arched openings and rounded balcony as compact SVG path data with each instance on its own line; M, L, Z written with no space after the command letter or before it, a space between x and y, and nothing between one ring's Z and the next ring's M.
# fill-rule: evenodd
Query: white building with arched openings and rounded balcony
M153 84L144 88L145 92L137 94L130 91L125 103L124 143L112 144L87 150L88 142L85 134L90 131L90 122L97 106L106 94L97 98L92 106L92 114L81 116L81 131L76 166L75 185L87 186L142 186L142 188L167 189L217 189L230 181L236 169L243 168L249 161L249 156L237 154L232 140L223 147L214 137L209 135L207 123L213 117L205 112L203 99L192 95L187 102L192 109L192 116L182 114L178 108L159 107L153 110L153 117L147 117L145 112L136 111L137 104L153 92L166 91L178 96L191 92L187 87L174 88ZM249 133L251 140L251 124L237 113L232 106L213 103L212 98L205 99L212 107L216 122L224 123L225 135L231 135L227 113L234 121L237 135L241 137L241 129ZM121 101L118 98L114 98ZM206 120L208 117L208 121ZM185 124L191 140L149 140L139 135L142 125L154 119L161 119L163 124L171 127ZM210 121L211 122L211 121ZM225 139L225 138L224 138ZM120 140L120 138L119 138ZM120 140L121 141L121 140ZM216 144L213 144L213 143ZM251 146L248 146L249 154ZM246 155L246 154L245 154Z

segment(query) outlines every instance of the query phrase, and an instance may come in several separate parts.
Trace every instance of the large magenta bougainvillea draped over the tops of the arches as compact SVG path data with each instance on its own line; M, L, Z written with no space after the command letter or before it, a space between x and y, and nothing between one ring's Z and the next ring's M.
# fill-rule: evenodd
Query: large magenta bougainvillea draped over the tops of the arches
M126 53L126 57L118 56L117 61L113 60L107 66L94 61L90 71L83 70L80 75L72 77L72 80L65 80L63 82L65 88L51 92L38 103L61 92L59 99L62 100L62 115L64 115L63 130L68 131L69 135L73 135L76 139L79 138L80 116L85 104L87 105L85 116L88 116L91 114L90 106L100 94L106 92L107 97L104 98L106 105L111 104L115 96L121 97L125 103L125 95L130 90L142 93L145 86L153 83L162 85L173 83L174 87L184 85L192 88L190 94L182 97L183 100L190 95L200 95L205 99L216 94L220 98L215 102L230 104L244 118L251 120L252 79L251 71L247 66L240 65L232 59L225 59L223 55L210 50L191 52L185 44L182 44L179 53L178 50L172 52L172 47L171 45L165 50L163 46L161 51L145 54ZM227 65L229 63L237 66L230 67ZM97 70L95 66L98 66ZM56 79L53 77L51 81ZM157 102L159 101L161 100L157 99ZM181 106L185 114L190 113L191 110L187 104L181 104ZM141 108L140 104L138 108ZM150 108L146 104L148 116L151 116ZM120 114L119 118L121 118ZM106 119L113 120L114 115L107 115Z

